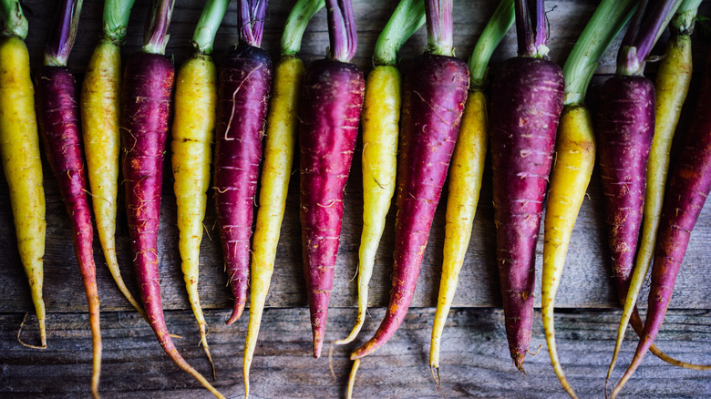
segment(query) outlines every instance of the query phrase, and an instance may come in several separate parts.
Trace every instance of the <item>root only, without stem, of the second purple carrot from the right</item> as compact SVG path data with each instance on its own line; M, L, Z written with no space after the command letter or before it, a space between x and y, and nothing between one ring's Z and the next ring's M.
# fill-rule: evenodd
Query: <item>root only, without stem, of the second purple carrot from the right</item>
M652 82L640 76L608 79L596 134L613 282L624 303L642 224L646 165L654 137Z

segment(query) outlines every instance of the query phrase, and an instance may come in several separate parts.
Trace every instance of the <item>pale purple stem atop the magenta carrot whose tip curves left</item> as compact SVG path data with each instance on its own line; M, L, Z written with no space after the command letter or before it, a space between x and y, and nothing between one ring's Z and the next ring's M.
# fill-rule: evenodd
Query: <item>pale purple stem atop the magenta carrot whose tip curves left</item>
M452 0L427 0L428 53L454 56L452 38Z

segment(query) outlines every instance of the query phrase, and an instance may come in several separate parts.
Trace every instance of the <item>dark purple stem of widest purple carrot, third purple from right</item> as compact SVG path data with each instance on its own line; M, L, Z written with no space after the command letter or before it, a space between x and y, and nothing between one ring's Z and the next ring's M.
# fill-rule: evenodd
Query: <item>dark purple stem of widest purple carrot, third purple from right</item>
M519 56L545 57L548 54L548 37L543 0L516 0L514 11Z

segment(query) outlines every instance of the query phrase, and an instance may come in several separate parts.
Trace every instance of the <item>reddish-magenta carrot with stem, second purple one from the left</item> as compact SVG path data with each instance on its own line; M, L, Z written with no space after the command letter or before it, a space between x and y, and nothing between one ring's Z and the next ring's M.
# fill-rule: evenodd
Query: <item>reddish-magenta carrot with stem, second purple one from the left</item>
M121 147L133 264L143 307L163 350L217 397L222 394L182 358L163 315L158 276L158 230L163 153L168 137L174 67L164 56L173 1L154 4L142 51L129 58L121 87Z

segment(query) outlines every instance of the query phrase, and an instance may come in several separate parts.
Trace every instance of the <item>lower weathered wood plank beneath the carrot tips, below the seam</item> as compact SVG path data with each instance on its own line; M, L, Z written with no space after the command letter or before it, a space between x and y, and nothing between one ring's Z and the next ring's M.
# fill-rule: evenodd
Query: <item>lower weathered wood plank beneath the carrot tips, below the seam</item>
M332 310L327 339L345 336L355 310ZM246 318L224 326L228 311L210 312L210 345L217 369L215 383L222 394L243 394L242 347ZM360 342L375 332L383 310L371 312ZM556 314L558 351L563 370L580 397L603 397L604 375L612 357L618 311L568 311ZM413 309L393 338L366 357L356 378L356 398L439 398L428 367L429 334L434 311ZM27 349L15 341L22 314L0 314L0 396L81 397L88 394L90 333L83 313L51 313L47 319L46 351ZM198 346L200 336L191 312L167 312L166 320L180 353L201 373L209 364ZM201 389L160 349L148 325L134 313L102 314L104 398L207 398ZM36 336L31 320L23 337ZM264 312L260 342L252 364L254 398L343 397L351 362L348 350L336 347L335 377L328 359L311 357L310 324L306 309L269 309ZM632 334L623 344L619 378L634 352ZM711 363L711 312L671 311L656 340L660 348L680 359ZM554 373L545 348L541 314L536 312L526 375L511 366L503 315L493 309L456 309L450 313L442 341L442 389L447 397L562 398L567 397ZM616 382L616 380L614 381ZM709 397L711 373L682 370L649 355L626 385L624 397Z

